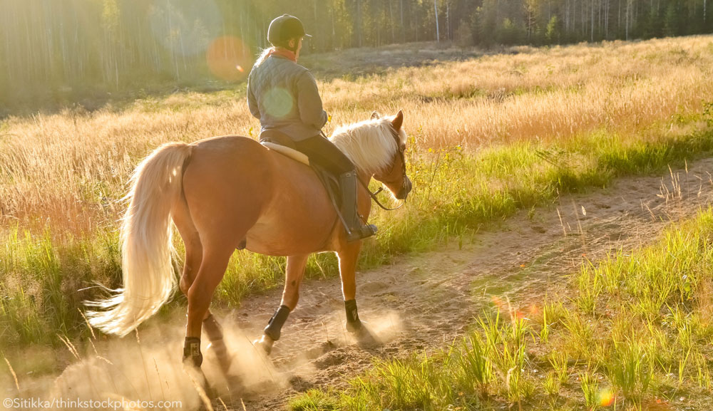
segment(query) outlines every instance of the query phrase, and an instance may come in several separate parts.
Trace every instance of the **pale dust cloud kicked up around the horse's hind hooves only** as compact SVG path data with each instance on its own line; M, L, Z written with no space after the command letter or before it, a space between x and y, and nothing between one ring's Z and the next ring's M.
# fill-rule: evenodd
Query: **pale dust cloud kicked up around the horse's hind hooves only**
M201 341L203 375L192 373L191 378L181 363L185 337L183 324L160 323L154 319L140 327L138 335L93 338L81 347L67 341L66 350L71 353L72 360L59 375L20 373L16 385L11 373L3 372L0 373L0 392L5 398L48 401L53 404L50 408L56 410L81 408L69 402L77 400L111 400L115 404L124 401L124 406L118 409L128 409L126 405L133 402L129 408L195 410L203 401L200 390L219 404L220 401L240 404L242 397L284 389L287 377L252 346L250 338L235 323L225 319L220 322L231 356L227 375L222 372L204 335ZM43 355L56 355L55 350L60 349L48 349ZM9 358L9 363L16 364L15 368L23 368L22 363L26 360L25 355L19 357ZM4 361L2 363L6 365ZM56 362L55 366L58 367ZM9 371L9 367L4 368ZM165 406L166 402L170 404ZM0 406L0 410L14 408L9 402ZM44 407L31 405L24 408Z

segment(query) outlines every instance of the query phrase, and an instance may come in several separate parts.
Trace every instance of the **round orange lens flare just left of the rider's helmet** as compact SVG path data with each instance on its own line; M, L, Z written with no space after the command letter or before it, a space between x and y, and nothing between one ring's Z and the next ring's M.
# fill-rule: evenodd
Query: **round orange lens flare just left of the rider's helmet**
M243 67L252 66L252 53L240 38L222 36L210 42L205 60L213 76L225 81L239 81L247 75Z

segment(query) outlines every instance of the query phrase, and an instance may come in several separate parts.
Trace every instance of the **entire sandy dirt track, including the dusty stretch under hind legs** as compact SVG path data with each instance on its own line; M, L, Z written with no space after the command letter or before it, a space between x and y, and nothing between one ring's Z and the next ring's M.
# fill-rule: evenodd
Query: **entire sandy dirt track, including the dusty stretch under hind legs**
M568 274L584 259L597 261L612 249L647 244L671 221L691 217L709 203L713 158L688 168L567 195L558 204L520 212L497 230L476 234L462 249L451 241L442 251L403 256L391 266L359 272L359 313L374 335L369 343L357 343L344 329L339 279L306 281L299 306L267 360L257 355L250 340L262 333L279 304L280 291L247 298L239 310L219 315L237 359L232 371L240 382L226 384L204 348L203 369L220 395L213 407L221 410L225 403L242 410L242 400L250 411L279 410L297 392L343 387L375 359L445 347L493 304L493 298L527 307L540 304L545 294L562 293ZM170 317L175 318L172 323L153 319L142 326L140 341L109 338L98 341L96 349L72 357L64 353L71 365L58 378L19 375L19 394L123 395L181 400L183 409L198 407L193 383L178 365L184 316ZM45 354L28 353L25 360ZM14 383L6 392L15 392Z

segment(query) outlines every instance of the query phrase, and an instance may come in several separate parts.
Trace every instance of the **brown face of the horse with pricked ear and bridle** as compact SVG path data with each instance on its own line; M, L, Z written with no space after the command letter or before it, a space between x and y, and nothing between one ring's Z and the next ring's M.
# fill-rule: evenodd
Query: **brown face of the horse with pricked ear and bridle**
M372 113L371 118L380 118L379 113ZM396 199L406 199L411 192L411 180L406 175L406 132L401 127L404 124L404 113L399 110L399 113L389 119L391 123L391 135L396 142L396 152L391 158L391 165L384 167L383 170L376 172L374 178L384 183L386 188L394 194Z

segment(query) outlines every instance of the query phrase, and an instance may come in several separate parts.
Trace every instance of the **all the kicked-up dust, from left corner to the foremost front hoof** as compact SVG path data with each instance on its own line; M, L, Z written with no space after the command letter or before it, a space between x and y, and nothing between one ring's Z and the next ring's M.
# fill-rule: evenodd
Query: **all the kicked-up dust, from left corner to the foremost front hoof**
M172 317L185 318L178 313ZM318 350L309 350L309 355L304 355L304 347L289 346L282 340L277 342L276 345L282 345L291 352L287 356L292 357L287 363L277 361L282 363L279 368L273 364L275 358L268 358L252 345L252 339L257 337L253 335L255 330L245 332L230 318L221 318L219 321L230 355L227 373L223 372L225 367L204 335L202 374L188 375L180 361L185 337L183 323L178 320L165 323L165 320L154 318L140 327L138 335L131 333L124 338L98 335L81 346L64 340L65 348L27 348L8 359L21 372L17 373L17 384L12 373L0 373L0 392L6 398L55 401L50 408L56 410L81 408L67 402L76 400L111 400L115 406L116 402L123 402L124 406L118 409L193 410L205 400L200 395L203 391L212 399L214 408L216 404L222 408L220 403L223 402L240 409L243 399L277 395L289 387L296 375L317 372L314 368L314 363L320 363L317 359L328 358L329 352L336 348L352 344L363 347L381 345L396 338L403 330L403 321L395 311L364 313L367 320L359 335L346 331L343 313L335 311L327 317L330 320L324 324L326 328L343 332L324 335L322 338L327 341L319 345ZM290 333L306 333L311 335L308 339L319 339L315 333L322 331L314 329L314 324L307 324ZM64 363L69 365L63 367ZM6 370L9 371L9 367ZM4 404L0 410L14 408Z

